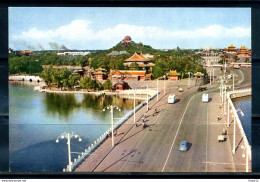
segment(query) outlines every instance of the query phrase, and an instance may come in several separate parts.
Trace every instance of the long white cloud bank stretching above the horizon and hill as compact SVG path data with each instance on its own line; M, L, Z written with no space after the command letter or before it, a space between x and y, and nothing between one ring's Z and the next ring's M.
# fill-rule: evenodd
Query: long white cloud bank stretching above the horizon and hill
M130 35L134 41L143 43L152 43L163 46L163 43L200 41L202 39L212 40L237 40L240 38L249 39L251 36L251 27L233 27L227 28L222 25L210 25L198 29L189 30L170 30L157 26L136 26L130 24L118 24L111 28L94 31L91 22L87 20L74 20L68 25L61 26L52 30L38 30L32 28L20 35L11 36L11 42L26 41L34 44L40 43L48 47L49 42L65 44L69 48L75 49L107 49ZM19 47L19 45L15 45ZM156 47L156 46L155 46ZM156 48L166 48L156 47Z

